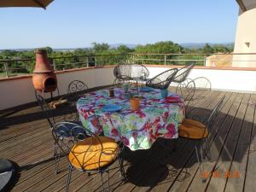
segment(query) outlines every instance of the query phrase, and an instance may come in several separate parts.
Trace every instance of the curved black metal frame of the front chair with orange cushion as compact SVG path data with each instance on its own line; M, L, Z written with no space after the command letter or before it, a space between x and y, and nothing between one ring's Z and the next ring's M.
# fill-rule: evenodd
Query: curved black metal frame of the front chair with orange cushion
M61 134L59 134L58 131L56 131L56 130L58 130L60 128L61 128L61 130L71 131L72 138L67 140L67 142L61 142ZM76 130L79 130L79 129L85 129L86 134L79 133L79 131L76 131ZM63 134L66 134L65 131L63 132ZM84 128L81 125L73 124L73 123L70 123L70 122L60 122L60 123L55 124L55 126L52 129L52 135L53 135L53 137L55 139L55 143L58 145L59 148L61 148L61 151L63 153L65 153L65 154L67 154L68 175L67 175L67 188L66 188L66 191L68 191L68 189L69 189L69 183L70 183L70 180L71 180L72 172L75 169L79 169L82 172L88 172L88 174L90 174L91 172L98 172L98 173L100 173L101 174L101 179L102 179L102 189L103 189L103 191L105 190L105 188L104 188L104 184L103 184L104 182L103 182L102 174L104 172L107 172L108 173L108 188L109 188L109 169L108 168L109 168L109 166L111 166L113 164L113 162L115 160L113 160L113 162L110 162L110 164L108 164L108 166L101 166L102 154L106 154L106 155L110 155L110 154L107 153L106 151L103 151L102 141L101 141L101 139L99 137L97 137L89 129L86 129L86 128ZM83 152L79 152L79 153L74 152L73 151L73 147L76 144L78 144L79 142L81 142L81 138L90 139L90 147L89 148L85 148ZM99 155L99 158L97 160L98 168L95 169L95 170L86 170L84 168L85 167L85 163L87 162L86 154L90 153L90 150L91 150L91 148L94 145L94 141L97 141L97 143L99 143L100 147L101 147L101 148L98 148L98 150L100 150L100 155ZM68 153L66 153L66 148L67 148ZM118 150L116 153L117 153L116 157L119 160L120 159L120 155L119 154L121 153L121 150ZM75 158L75 160L77 162L79 162L79 167L73 166L72 162L68 158L69 154L72 154L73 157ZM79 159L77 157L77 155L79 155L79 154L84 155L83 156L83 162L79 161ZM123 174L125 171L124 171L123 165L121 164L120 160L119 160L119 166L120 166L120 172Z

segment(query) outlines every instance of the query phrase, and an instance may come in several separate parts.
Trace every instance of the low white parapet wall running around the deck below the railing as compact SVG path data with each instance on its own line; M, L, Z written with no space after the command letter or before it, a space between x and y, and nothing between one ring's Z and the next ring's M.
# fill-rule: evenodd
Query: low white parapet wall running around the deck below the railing
M150 73L149 77L154 77L167 69L169 68L148 67ZM195 79L197 77L209 79L212 84L212 89L216 90L256 91L256 71L194 68L189 74L189 78ZM113 84L113 67L57 73L57 79L62 95L67 93L67 85L73 79L84 81L89 88ZM0 80L0 90L0 110L36 101L32 77Z

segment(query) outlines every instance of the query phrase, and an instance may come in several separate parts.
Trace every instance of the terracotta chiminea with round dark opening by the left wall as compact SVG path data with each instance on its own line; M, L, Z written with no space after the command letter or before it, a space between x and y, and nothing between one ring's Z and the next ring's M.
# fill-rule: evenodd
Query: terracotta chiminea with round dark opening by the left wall
M33 71L34 88L41 92L52 92L57 87L54 70L49 65L46 49L37 49L36 66Z

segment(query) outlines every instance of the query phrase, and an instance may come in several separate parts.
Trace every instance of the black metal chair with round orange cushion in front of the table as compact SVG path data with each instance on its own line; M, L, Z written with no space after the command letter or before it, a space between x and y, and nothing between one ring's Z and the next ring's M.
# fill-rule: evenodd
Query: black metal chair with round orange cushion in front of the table
M71 128L71 134L73 138L68 141L60 142L61 134L57 131L59 129L65 130ZM86 134L77 131L84 129ZM82 172L98 172L101 173L102 189L105 190L103 184L103 172L108 173L108 188L109 188L109 170L115 160L119 160L120 172L124 176L125 172L122 166L122 160L120 160L121 149L119 144L116 143L110 137L96 136L90 130L84 128L81 125L77 125L71 122L56 123L52 130L52 135L55 138L55 143L65 153L67 152L68 160L68 175L67 175L67 189L69 189L69 183L73 170L78 169ZM85 139L84 139L85 137ZM82 138L82 140L80 139Z

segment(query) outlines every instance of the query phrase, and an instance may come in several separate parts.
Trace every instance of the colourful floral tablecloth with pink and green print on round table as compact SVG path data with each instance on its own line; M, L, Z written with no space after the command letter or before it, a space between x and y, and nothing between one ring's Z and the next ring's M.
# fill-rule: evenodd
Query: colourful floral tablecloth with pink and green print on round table
M137 95L137 90L131 90ZM122 89L114 90L114 97L109 97L108 90L90 92L79 98L77 108L79 118L90 131L122 141L131 150L147 149L158 137L177 138L177 127L184 118L184 103L169 103L160 99L160 90L139 91L140 108L131 110L130 99L125 99ZM177 96L169 92L168 96ZM121 110L113 113L104 112L102 107L117 104ZM96 124L98 116L102 126Z

